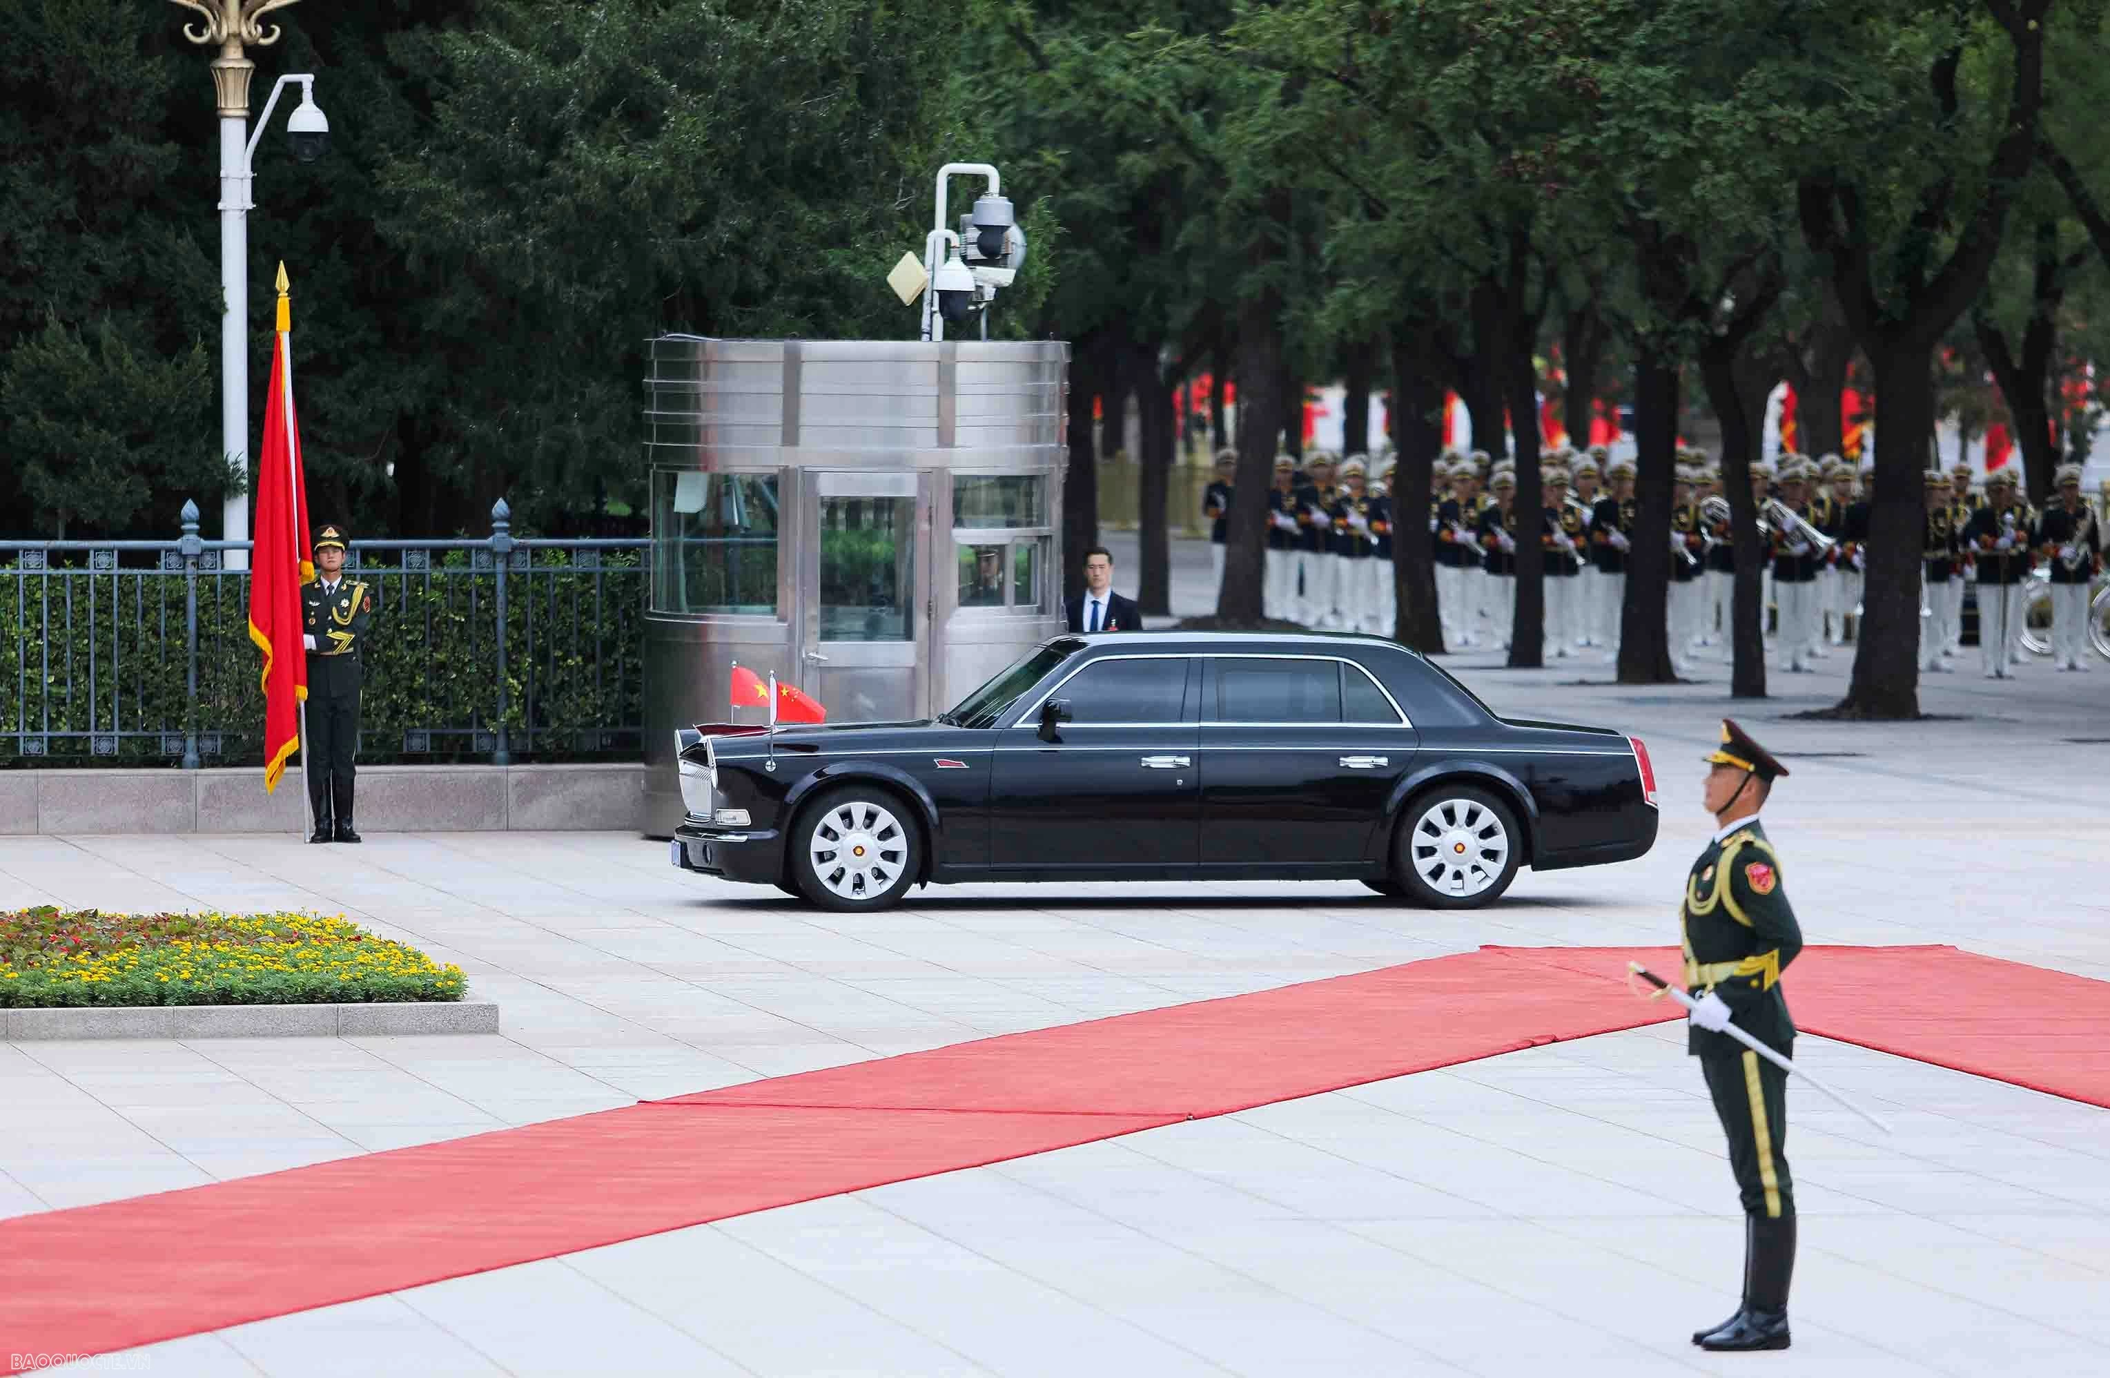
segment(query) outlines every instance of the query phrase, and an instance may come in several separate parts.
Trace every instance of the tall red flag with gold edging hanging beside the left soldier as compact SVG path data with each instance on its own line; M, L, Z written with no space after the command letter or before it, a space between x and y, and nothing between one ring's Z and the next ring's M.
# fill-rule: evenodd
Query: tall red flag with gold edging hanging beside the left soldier
M279 264L279 338L270 352L270 399L257 456L255 544L249 557L249 639L264 652L264 793L279 787L300 747L300 701L308 696L300 587L314 578L308 544L308 485L300 473L293 420L293 312Z

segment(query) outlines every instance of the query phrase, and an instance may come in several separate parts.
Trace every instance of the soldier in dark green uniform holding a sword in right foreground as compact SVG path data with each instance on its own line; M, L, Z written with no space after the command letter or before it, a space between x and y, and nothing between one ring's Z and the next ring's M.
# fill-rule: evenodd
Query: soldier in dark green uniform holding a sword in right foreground
M1781 888L1781 863L1758 810L1787 768L1722 720L1722 745L1707 760L1705 802L1715 836L1686 876L1677 910L1686 988L1694 998L1686 1051L1701 1059L1728 1165L1743 1199L1743 1304L1713 1329L1692 1332L1701 1348L1787 1348L1787 1285L1796 1272L1796 1184L1787 1171L1787 1072L1722 1030L1734 1023L1789 1057L1796 1026L1781 973L1802 952L1802 926Z

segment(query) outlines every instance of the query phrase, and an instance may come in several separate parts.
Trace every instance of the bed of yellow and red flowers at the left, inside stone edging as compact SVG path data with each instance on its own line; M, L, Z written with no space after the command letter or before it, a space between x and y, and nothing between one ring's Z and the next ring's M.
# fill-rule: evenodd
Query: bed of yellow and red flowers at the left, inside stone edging
M416 948L314 914L0 914L0 1009L460 1000Z

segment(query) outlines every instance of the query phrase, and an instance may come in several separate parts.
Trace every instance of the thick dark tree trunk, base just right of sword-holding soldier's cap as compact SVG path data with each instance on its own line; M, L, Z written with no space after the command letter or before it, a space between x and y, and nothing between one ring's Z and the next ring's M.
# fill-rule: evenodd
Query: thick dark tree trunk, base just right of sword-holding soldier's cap
M1924 437L1935 428L1933 344L1865 344L1876 374L1876 435ZM1920 715L1920 528L1926 513L1926 452L1876 445L1876 492L1867 515L1861 635L1853 682L1831 709L1838 717Z

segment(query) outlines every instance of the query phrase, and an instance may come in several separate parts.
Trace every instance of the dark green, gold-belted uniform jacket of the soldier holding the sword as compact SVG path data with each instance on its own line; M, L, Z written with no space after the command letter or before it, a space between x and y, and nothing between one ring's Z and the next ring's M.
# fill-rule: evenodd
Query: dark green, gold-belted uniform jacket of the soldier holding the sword
M1709 842L1686 876L1677 910L1686 954L1686 988L1713 992L1730 1021L1777 1053L1787 1053L1796 1023L1781 994L1781 973L1802 952L1802 926L1781 884L1781 863L1766 829L1751 819L1728 838ZM1690 1026L1688 1053L1728 1051L1734 1040Z

